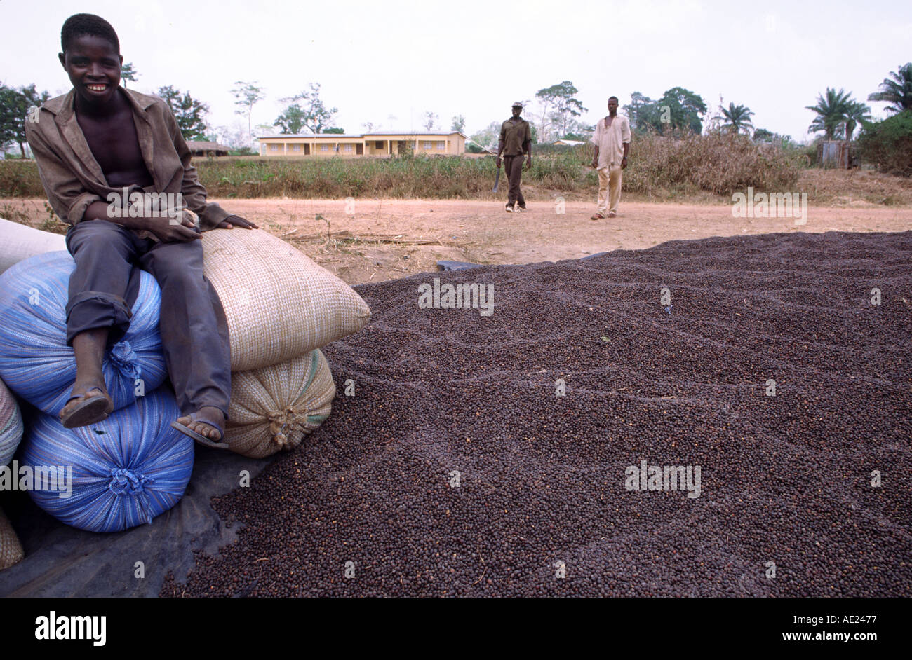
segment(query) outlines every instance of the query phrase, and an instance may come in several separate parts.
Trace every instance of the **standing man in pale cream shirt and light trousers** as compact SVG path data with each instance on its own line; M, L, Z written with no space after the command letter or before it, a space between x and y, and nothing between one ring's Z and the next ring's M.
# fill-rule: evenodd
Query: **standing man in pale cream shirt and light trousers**
M630 122L617 114L617 96L608 99L608 116L599 120L589 141L596 146L592 167L598 170L598 207L592 219L605 218L606 210L608 218L615 218L621 199L621 170L627 168L630 150Z

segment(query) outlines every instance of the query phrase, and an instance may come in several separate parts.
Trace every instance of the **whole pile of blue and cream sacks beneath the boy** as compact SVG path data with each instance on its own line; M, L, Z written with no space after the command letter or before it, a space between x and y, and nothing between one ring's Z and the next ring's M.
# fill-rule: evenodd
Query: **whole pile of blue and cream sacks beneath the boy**
M215 230L202 241L204 272L222 299L231 339L225 441L234 452L257 458L292 449L326 420L336 394L319 348L359 330L370 317L368 305L345 282L263 230ZM59 423L76 370L66 346L65 312L74 268L67 252L55 251L0 275L0 378L40 411L26 419L20 472L57 467L57 486L65 482L69 489L66 497L59 487L29 494L65 523L115 532L150 522L180 501L193 442L171 429L179 412L173 393L162 386L161 297L145 272L130 330L103 362L115 411L88 427L67 430ZM67 467L69 478L60 472ZM4 529L0 517L0 554Z

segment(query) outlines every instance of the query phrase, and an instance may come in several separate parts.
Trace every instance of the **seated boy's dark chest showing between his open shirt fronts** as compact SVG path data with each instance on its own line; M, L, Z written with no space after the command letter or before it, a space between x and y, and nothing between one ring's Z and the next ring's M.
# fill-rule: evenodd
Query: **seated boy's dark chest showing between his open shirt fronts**
M103 119L77 116L77 121L111 188L152 183L129 108Z

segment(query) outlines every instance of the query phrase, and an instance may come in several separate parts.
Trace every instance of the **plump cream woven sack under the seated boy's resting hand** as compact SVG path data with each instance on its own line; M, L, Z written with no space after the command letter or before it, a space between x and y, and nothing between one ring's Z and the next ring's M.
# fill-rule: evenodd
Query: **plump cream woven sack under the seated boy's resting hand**
M232 371L304 355L370 318L355 289L264 229L203 232L202 253L228 319Z

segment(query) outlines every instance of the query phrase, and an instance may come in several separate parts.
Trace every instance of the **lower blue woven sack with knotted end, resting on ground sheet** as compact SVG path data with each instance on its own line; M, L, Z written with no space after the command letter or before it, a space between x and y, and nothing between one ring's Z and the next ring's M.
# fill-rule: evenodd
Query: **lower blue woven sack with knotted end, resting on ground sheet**
M150 523L181 500L190 482L193 441L171 428L180 416L167 388L77 429L39 413L26 432L19 463L20 474L24 466L32 471L29 495L57 520L89 532ZM38 474L45 475L43 481Z

